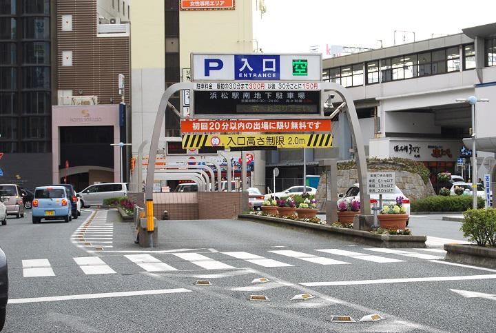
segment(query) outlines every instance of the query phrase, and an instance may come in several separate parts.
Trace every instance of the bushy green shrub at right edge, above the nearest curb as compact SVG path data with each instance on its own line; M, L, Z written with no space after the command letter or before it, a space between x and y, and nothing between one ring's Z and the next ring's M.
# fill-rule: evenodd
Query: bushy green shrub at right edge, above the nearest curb
M467 210L460 230L479 246L496 246L496 210Z

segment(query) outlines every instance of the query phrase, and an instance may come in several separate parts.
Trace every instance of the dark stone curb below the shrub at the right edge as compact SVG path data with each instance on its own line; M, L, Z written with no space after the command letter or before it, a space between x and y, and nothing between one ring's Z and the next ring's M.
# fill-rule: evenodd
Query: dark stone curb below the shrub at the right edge
M444 244L446 261L496 268L496 248L466 244Z

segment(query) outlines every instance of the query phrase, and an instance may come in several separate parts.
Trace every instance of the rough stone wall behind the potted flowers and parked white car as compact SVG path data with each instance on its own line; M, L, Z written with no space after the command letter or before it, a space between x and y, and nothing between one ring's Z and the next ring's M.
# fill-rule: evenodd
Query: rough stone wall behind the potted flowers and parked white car
M418 174L408 171L397 170L380 170L380 172L395 172L396 186L402 190L403 194L411 201L425 198L426 196L435 195L431 181L424 184ZM369 170L369 172L378 172L378 170ZM320 175L320 182L317 188L317 200L320 204L320 210L326 199L326 174ZM358 183L358 172L356 169L338 170L338 193L345 193L351 185Z

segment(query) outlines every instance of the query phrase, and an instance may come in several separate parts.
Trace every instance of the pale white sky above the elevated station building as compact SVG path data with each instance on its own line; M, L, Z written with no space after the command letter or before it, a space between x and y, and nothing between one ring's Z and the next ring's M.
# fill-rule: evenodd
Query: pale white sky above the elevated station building
M495 0L265 0L258 47L265 53L309 52L326 44L379 48L457 34L496 22ZM404 30L403 32L394 31ZM325 57L325 56L324 56Z

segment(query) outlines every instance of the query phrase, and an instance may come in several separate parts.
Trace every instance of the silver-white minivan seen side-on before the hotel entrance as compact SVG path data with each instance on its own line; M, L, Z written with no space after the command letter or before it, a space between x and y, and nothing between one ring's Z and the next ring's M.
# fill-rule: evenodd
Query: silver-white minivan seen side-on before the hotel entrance
M76 196L81 200L81 207L90 208L92 205L103 205L104 199L127 195L129 183L101 183L90 185Z

